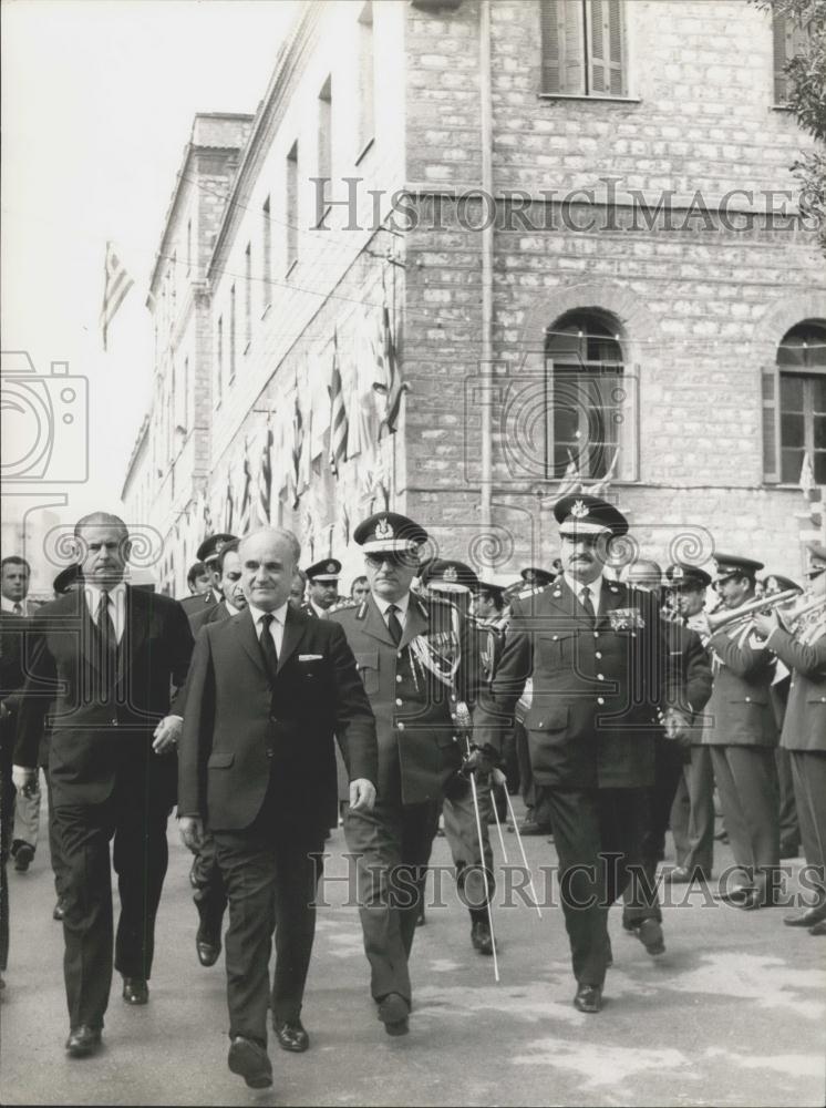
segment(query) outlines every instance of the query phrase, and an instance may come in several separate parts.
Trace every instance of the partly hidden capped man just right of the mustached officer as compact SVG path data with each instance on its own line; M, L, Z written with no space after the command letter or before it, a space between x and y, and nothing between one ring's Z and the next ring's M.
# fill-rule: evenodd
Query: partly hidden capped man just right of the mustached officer
M673 562L667 566L663 585L671 601L672 619L684 628L685 664L692 655L708 657L703 646L705 591L711 585L711 574L690 562ZM669 634L677 637L669 628ZM689 696L692 705L692 725L698 722L701 706L696 697ZM705 697L708 701L708 696ZM705 702L704 701L704 702ZM709 881L714 862L714 771L711 750L702 742L702 730L692 726L690 747L683 765L682 780L671 807L671 832L674 837L677 865L665 874L672 884L691 884L701 879Z

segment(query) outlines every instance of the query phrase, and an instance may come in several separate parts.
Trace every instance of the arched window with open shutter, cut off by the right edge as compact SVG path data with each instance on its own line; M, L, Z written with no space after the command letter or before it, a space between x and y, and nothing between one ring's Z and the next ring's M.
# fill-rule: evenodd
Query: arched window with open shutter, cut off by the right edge
M803 474L804 482L826 484L826 320L806 320L783 336L776 372L775 480L797 484Z

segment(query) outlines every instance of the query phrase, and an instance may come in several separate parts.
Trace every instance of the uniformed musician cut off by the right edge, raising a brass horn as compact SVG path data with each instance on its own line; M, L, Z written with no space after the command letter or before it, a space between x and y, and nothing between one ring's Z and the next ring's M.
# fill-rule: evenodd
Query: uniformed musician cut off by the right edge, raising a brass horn
M817 884L814 905L783 922L826 935L826 546L808 548L810 585L801 615L786 627L777 611L758 614L754 628L792 671L781 746L792 761L803 851Z

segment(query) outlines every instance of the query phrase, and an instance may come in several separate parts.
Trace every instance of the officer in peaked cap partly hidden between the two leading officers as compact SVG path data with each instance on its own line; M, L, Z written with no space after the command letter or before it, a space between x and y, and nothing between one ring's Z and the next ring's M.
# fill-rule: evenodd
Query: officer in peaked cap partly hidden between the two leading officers
M467 617L472 634L473 656L477 659L472 673L475 684L486 679L482 657L484 643L488 633L479 627L471 615L471 597L478 587L479 579L474 571L464 562L455 558L432 558L420 577L422 587L431 595L446 596L456 604L463 616ZM474 701L478 687L474 688ZM469 752L463 739L463 755ZM479 954L493 955L494 936L488 922L488 903L494 894L493 851L488 823L493 819L491 797L491 773L476 774L476 799L479 808L479 827L482 843L476 827L476 812L473 802L473 791L466 782L457 782L457 788L448 790L442 812L444 815L444 832L451 848L453 862L456 866L456 883L463 894L463 900L471 914L471 943ZM464 787L462 787L464 786ZM484 858L483 858L484 855ZM487 890L482 876L482 865L487 870Z

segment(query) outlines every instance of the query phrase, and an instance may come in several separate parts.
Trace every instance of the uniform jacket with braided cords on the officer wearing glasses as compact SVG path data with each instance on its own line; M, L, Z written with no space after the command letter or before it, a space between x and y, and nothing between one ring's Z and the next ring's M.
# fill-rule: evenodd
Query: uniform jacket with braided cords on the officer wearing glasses
M375 599L339 608L332 620L344 628L379 737L379 797L419 804L441 799L462 763L456 700L473 699L474 663L467 622L456 607L434 596L410 594L399 646ZM455 679L440 680L423 658L450 653Z

